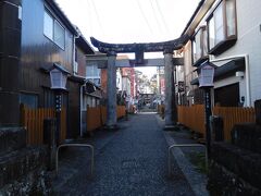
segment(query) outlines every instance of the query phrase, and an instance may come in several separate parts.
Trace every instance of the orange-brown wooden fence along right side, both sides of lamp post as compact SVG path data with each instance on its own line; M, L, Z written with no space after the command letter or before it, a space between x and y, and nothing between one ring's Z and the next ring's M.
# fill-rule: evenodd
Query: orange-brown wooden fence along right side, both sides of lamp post
M177 107L178 122L204 135L204 106ZM224 122L224 139L231 140L231 132L235 124L254 122L253 108L214 107L213 115L219 115Z

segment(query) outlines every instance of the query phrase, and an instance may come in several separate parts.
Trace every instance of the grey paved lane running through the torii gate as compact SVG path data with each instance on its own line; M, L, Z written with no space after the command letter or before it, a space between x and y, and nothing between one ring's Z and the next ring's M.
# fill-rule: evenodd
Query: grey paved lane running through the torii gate
M87 149L63 151L53 181L58 195L194 196L175 160L173 177L167 177L167 143L157 114L130 115L119 125L116 132L100 131L85 140L96 150L92 177Z

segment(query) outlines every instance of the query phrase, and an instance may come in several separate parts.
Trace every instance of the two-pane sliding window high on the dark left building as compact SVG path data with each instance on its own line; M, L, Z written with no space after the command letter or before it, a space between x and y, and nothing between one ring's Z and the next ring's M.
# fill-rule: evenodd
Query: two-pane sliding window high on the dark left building
M65 48L65 28L48 11L44 14L44 35L60 48Z

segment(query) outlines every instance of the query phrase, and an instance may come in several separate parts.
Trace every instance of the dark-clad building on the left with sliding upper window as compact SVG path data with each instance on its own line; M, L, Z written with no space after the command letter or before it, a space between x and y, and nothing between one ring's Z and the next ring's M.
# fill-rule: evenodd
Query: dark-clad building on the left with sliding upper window
M77 137L82 126L82 86L86 83L85 56L94 53L94 50L53 0L23 0L17 5L15 3L3 3L17 12L13 14L17 19L11 16L11 12L5 13L9 19L3 17L3 24L15 24L18 27L15 30L16 38L13 38L15 45L12 45L17 56L15 65L12 65L12 70L7 70L10 63L3 62L0 69L2 81L8 79L9 74L13 74L15 78L15 83L9 86L9 89L15 88L15 98L10 97L13 107L9 110L16 114L15 118L8 118L17 119L15 121L18 125L21 103L30 109L54 108L54 91L51 89L49 71L57 63L70 73L66 90L62 91L62 107L67 114L67 138ZM9 21L11 19L15 23ZM14 35L11 32L7 33L7 37L12 36ZM4 86L4 83L0 86ZM7 112L8 108L4 109L2 105L5 105L4 101L1 101L1 111ZM5 121L4 118L0 119Z

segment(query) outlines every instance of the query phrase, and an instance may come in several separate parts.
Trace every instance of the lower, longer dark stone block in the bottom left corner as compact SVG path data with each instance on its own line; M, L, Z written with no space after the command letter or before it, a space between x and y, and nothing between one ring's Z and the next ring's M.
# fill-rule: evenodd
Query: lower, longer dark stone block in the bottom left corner
M34 170L45 169L46 157L45 147L26 147L0 156L0 188Z

